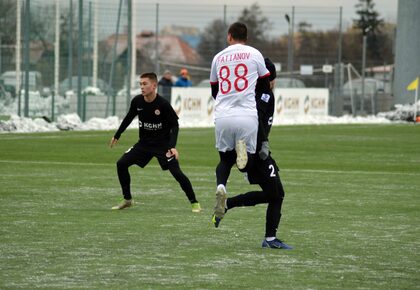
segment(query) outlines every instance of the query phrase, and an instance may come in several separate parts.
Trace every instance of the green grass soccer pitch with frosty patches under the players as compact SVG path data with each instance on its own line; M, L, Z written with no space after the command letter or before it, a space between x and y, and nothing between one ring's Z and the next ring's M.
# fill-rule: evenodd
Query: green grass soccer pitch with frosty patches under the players
M211 224L213 129L177 146L202 213L155 160L130 169L135 207L111 211L137 134L0 134L0 289L420 289L420 126L274 127L292 251L261 249L265 205ZM255 188L232 171L230 195Z

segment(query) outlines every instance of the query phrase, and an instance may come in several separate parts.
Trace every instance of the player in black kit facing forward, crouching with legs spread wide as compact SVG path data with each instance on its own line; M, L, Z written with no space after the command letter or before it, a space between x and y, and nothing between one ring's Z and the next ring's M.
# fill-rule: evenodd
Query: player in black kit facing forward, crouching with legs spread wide
M144 168L156 157L162 170L169 170L178 181L191 203L192 211L200 212L201 207L191 182L179 167L179 154L175 149L179 129L178 116L169 102L156 93L157 82L155 73L144 73L140 76L141 95L133 98L127 115L111 139L112 148L133 119L138 117L139 141L117 161L118 179L124 200L112 209L125 209L133 205L128 168L133 164Z

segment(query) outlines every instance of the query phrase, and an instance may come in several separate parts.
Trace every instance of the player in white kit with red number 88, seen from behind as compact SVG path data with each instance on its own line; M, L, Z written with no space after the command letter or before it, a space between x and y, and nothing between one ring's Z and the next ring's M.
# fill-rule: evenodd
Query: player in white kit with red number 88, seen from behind
M247 27L233 23L228 30L229 46L213 58L210 83L215 98L214 122L216 148L220 162L216 167L215 213L224 214L226 183L235 163L246 171L257 147L258 114L255 101L255 86L258 78L268 76L264 57L255 48L245 45Z

